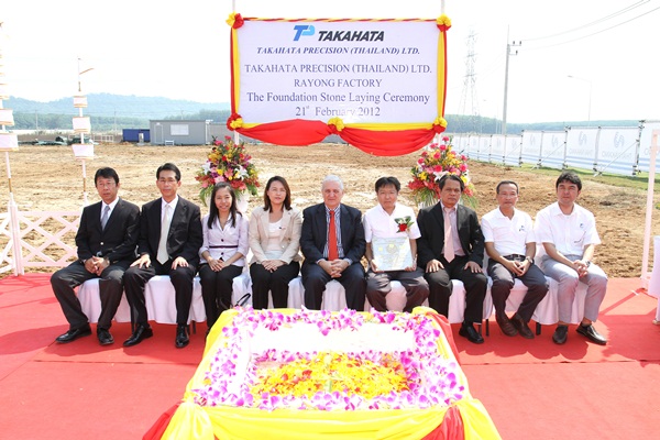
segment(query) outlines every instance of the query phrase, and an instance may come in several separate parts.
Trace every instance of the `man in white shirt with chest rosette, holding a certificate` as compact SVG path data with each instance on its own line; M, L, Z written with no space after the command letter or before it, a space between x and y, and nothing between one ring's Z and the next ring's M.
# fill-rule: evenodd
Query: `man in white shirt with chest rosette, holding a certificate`
M413 311L421 306L429 296L429 285L424 271L417 267L417 239L421 235L413 208L397 204L402 184L396 177L381 177L376 180L378 205L366 211L363 219L366 240L366 298L378 311L386 311L387 294L392 292L391 282L398 280L406 289L404 311ZM410 261L402 270L388 270L383 261L374 255L374 239L406 239L410 245ZM384 271L385 270L385 271Z

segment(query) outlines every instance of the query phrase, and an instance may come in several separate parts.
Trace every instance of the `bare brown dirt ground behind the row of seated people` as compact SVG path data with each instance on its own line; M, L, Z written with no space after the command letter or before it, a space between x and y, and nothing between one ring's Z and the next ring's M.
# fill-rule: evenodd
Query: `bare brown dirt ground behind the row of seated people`
M120 196L142 205L158 197L155 170L173 162L183 173L179 194L200 204L195 174L206 161L209 146L135 146L97 145L96 157L87 161L89 202L98 201L92 177L98 167L114 167L121 179ZM320 198L320 182L327 174L339 175L345 186L343 202L363 212L376 204L373 185L381 176L396 176L402 182L399 202L414 206L406 187L410 168L418 153L398 157L375 157L350 145L314 145L280 147L251 145L249 152L260 172L262 184L274 175L284 176L294 196L294 204L305 208ZM82 167L67 146L21 146L10 153L14 199L22 211L77 210L82 205ZM535 217L553 202L554 176L471 162L476 187L480 217L495 208L495 186L502 179L520 185L518 207ZM6 167L0 168L0 204L7 210L8 180ZM263 194L263 189L260 190ZM596 250L596 262L612 277L638 277L641 271L646 193L618 188L594 180L584 182L579 202L595 213L603 244ZM251 208L258 204L252 198ZM202 207L202 212L207 209ZM654 226L653 233L660 233ZM0 238L0 245L4 245ZM4 241L6 243L6 241Z

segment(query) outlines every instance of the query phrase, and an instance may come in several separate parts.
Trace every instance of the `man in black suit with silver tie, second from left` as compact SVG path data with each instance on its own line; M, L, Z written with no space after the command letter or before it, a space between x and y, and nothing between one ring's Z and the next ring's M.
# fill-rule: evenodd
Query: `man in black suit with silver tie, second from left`
M176 293L175 345L188 345L188 314L193 302L193 279L199 263L201 248L201 220L199 207L177 196L182 186L182 172L166 163L156 172L156 186L162 197L142 207L140 222L140 257L124 275L127 298L135 311L135 330L124 341L124 346L139 344L151 338L144 287L155 275L169 275Z

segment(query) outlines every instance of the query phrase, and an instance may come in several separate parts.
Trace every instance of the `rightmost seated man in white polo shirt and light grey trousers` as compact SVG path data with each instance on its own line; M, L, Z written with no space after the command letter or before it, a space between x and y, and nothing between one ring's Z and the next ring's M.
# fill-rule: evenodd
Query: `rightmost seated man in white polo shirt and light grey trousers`
M566 342L578 283L585 283L584 317L576 330L592 342L605 345L607 340L593 326L607 290L607 275L592 263L594 250L601 244L596 220L575 204L582 191L582 180L575 173L562 173L554 187L557 202L539 211L535 226L537 241L543 243L547 253L541 262L543 272L559 283L559 323L552 341Z

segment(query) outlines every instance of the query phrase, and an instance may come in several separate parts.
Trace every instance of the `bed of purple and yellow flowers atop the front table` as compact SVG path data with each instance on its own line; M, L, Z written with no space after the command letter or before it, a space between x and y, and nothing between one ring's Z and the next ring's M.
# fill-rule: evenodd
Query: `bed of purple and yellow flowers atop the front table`
M235 311L231 324L222 329L223 341L204 386L193 389L198 405L263 410L424 409L452 405L465 393L457 362L438 351L441 331L428 316L375 309L370 314L305 308L290 315L251 308ZM373 348L373 326L388 337L386 346L397 349ZM330 338L328 344L354 343L361 331L371 341L362 351L316 351L314 341L309 351L258 348L273 337L299 343L302 334Z

